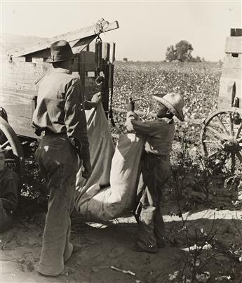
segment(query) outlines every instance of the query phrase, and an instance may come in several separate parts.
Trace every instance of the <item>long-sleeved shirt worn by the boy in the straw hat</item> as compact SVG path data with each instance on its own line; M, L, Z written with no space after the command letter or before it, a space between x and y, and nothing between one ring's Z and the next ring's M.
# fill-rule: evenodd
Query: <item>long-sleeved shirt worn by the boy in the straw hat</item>
M128 131L135 131L146 137L145 151L156 155L168 155L171 152L175 135L173 119L156 118L154 121L140 121L135 112L127 113Z

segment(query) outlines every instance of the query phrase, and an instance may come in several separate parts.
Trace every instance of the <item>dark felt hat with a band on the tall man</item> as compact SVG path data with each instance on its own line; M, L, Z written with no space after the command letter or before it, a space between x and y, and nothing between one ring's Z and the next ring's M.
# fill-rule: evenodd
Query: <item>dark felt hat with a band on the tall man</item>
M65 40L58 40L51 44L51 58L46 60L48 63L72 60L74 53L69 43Z

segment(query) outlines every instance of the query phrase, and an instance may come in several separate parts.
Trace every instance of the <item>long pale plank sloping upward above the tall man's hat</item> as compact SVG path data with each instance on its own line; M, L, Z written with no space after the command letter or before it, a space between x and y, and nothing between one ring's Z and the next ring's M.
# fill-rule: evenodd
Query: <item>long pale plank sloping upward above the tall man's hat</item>
M118 29L118 28L119 28L119 23L117 21L114 21L114 22L110 22L109 25L107 25L107 27L105 27L105 29L102 32L109 32L113 29ZM76 39L83 39L85 37L90 37L93 34L97 34L96 25L83 27L81 29L76 29L73 32L67 32L66 34L60 34L56 37L52 37L51 39L45 39L43 41L39 41L39 43L24 48L22 50L15 49L8 51L8 55L19 57L44 50L46 48L50 48L53 42L58 41L60 39L65 39L66 41L71 42L71 41L76 41Z

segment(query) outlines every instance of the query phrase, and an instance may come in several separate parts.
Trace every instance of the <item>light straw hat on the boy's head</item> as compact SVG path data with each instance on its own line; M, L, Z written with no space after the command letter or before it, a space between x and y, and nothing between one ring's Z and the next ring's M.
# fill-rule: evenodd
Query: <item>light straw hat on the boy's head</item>
M163 98L160 98L159 96L153 96L153 98L162 105L166 106L180 121L184 121L184 115L182 112L184 100L180 94L168 93L166 96L163 96Z

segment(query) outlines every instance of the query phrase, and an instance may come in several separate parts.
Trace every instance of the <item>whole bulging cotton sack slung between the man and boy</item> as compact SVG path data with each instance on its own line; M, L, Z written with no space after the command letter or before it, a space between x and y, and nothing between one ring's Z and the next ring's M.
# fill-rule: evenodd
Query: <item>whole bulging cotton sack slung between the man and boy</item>
M97 138L100 132L107 135L107 141L111 137L107 119L100 108L102 105L98 107L90 123L93 123L93 126L88 126L90 159L96 170L86 183L79 171L77 182L76 209L83 221L103 222L126 213L135 200L140 175L140 158L144 148L144 138L135 133L121 134L113 155L112 150L109 150L109 143L105 143L105 136L102 136L102 140ZM101 120L105 120L102 124L102 131L96 124L102 123ZM95 140L95 146L93 140ZM96 162L95 165L93 161ZM103 166L105 161L106 168ZM110 185L101 189L100 185L105 185L108 177L110 177ZM105 179L105 182L101 183L101 179Z

